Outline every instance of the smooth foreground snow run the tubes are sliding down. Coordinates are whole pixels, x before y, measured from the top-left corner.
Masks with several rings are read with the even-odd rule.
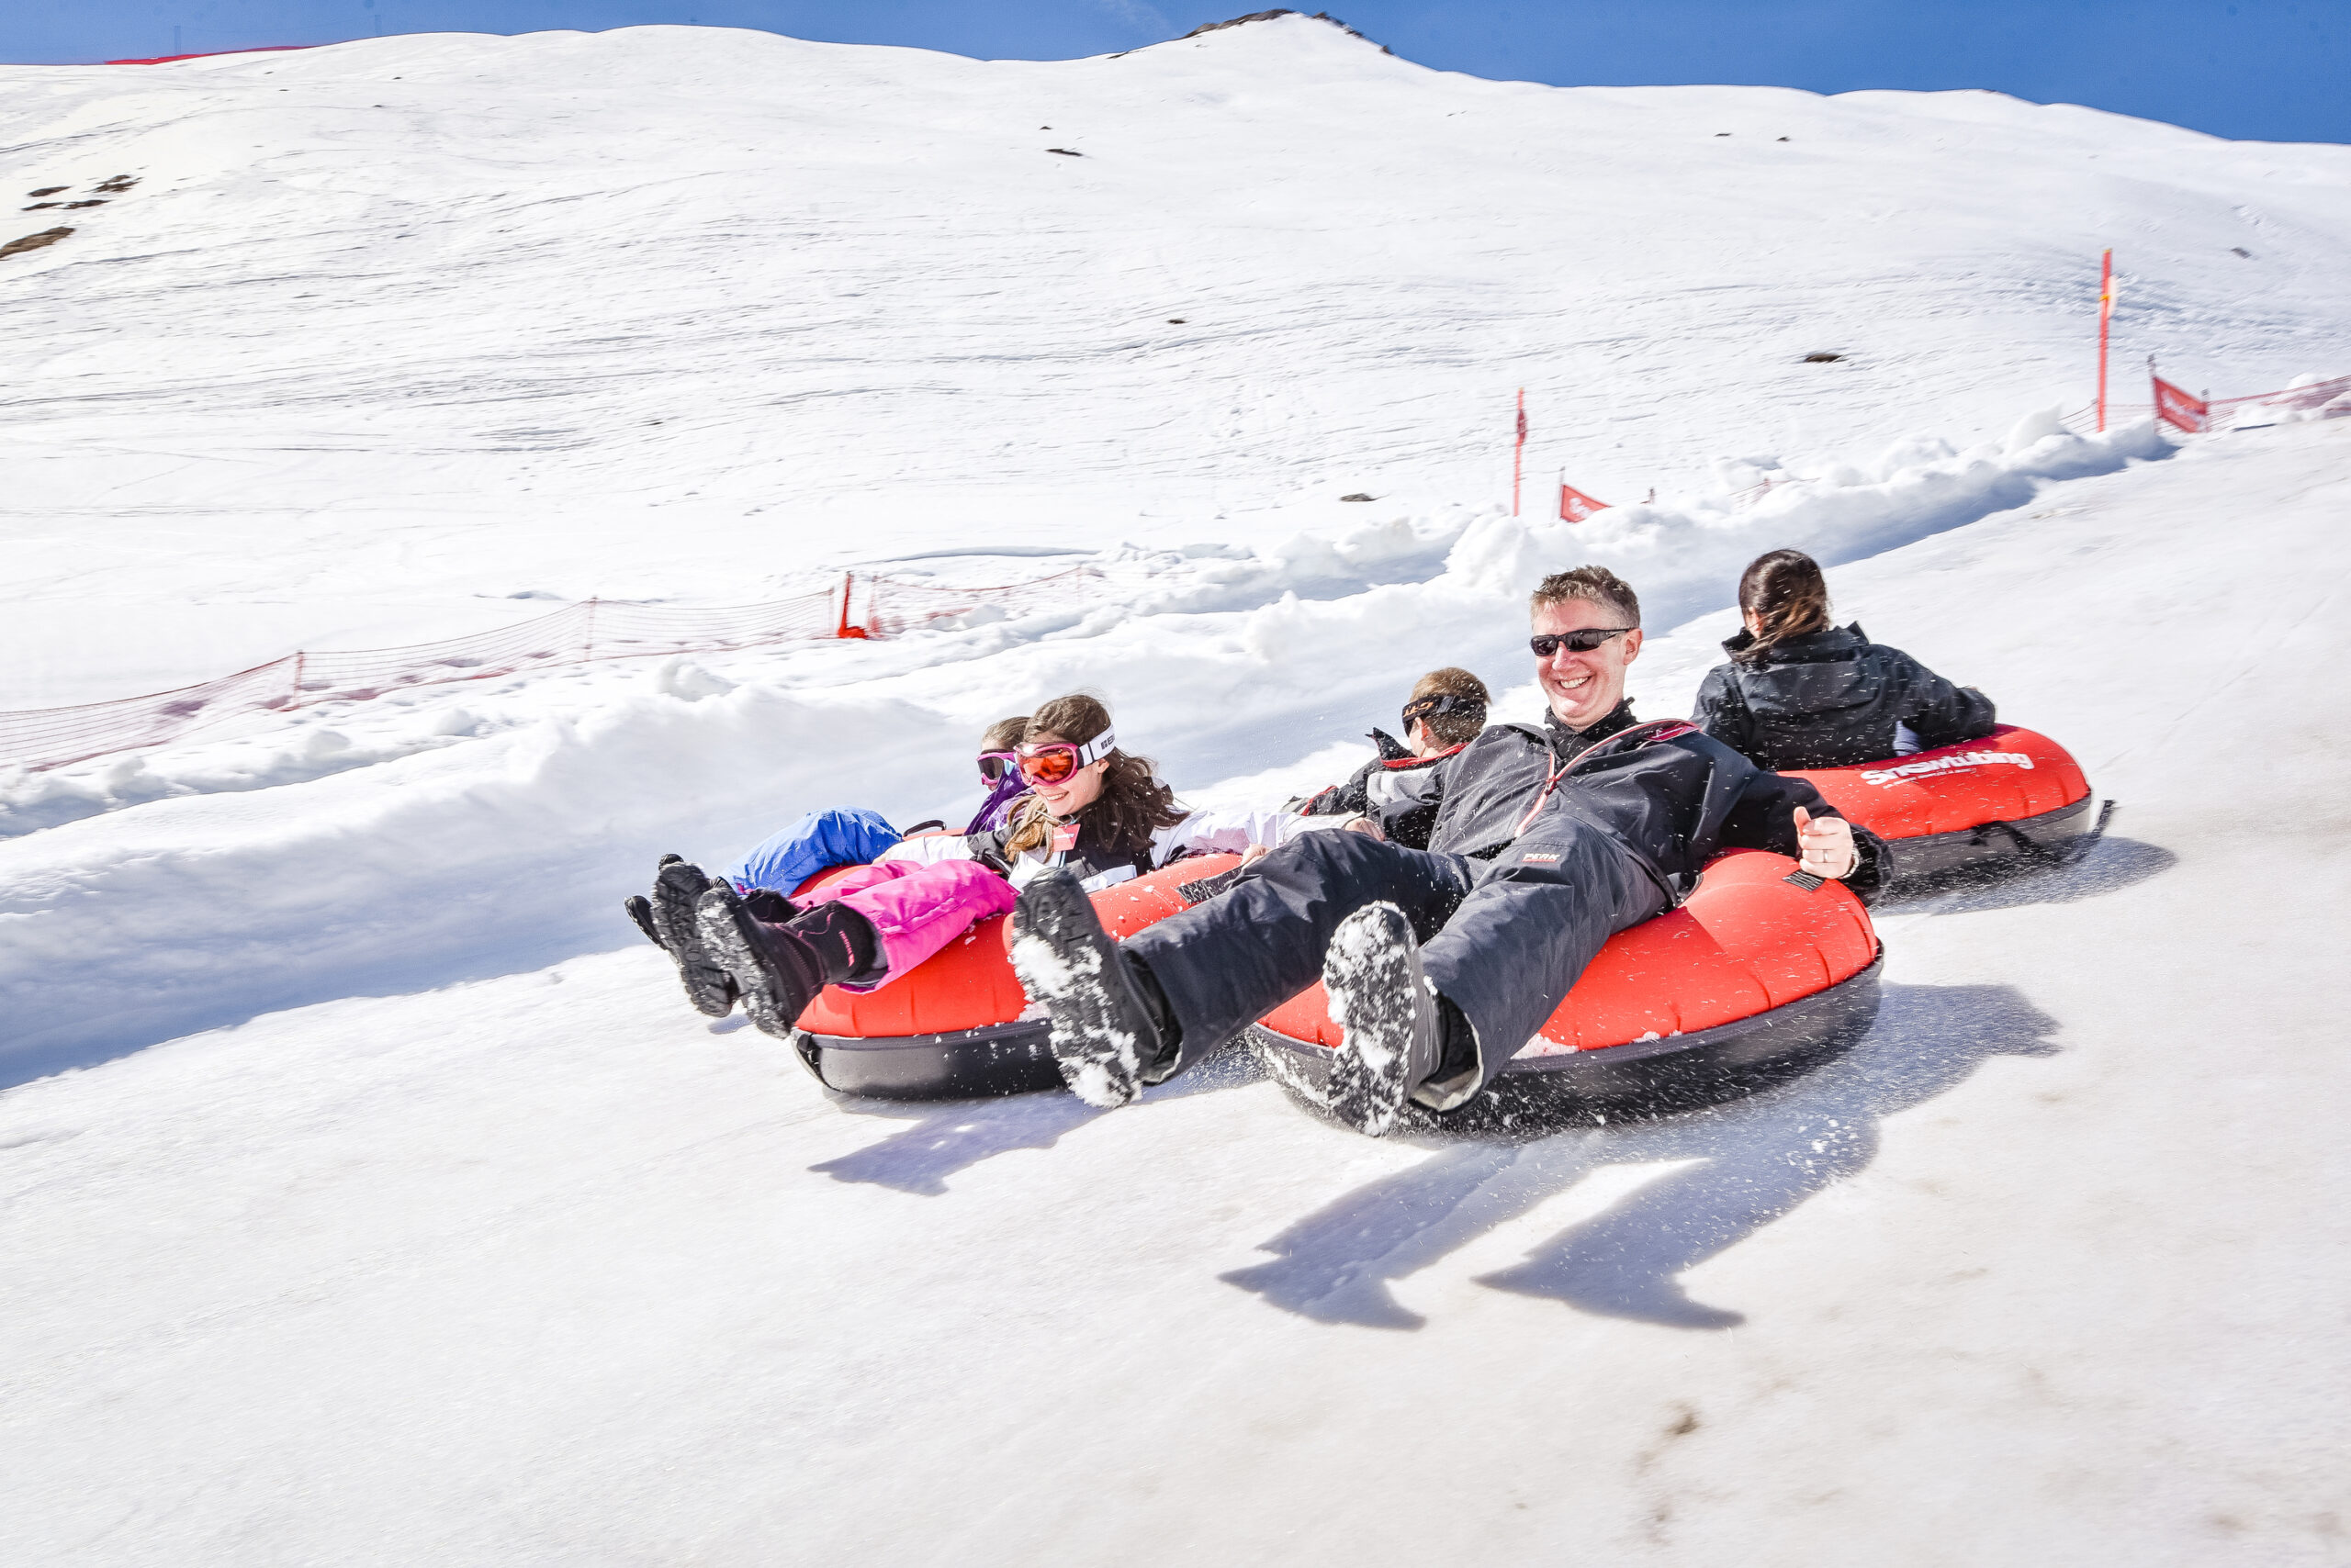
[[[1838,574],[2125,813],[2078,872],[1888,912],[1867,1046],[1721,1112],[1375,1145],[1239,1072],[828,1103],[642,945],[28,1084],[0,1544],[2335,1561],[2346,473],[2346,423],[2255,433]],[[1657,705],[1721,630],[1653,644]],[[228,924],[299,882],[221,884]]]

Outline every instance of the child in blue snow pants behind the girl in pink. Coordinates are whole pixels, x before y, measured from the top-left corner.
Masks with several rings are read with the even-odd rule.
[[[1020,745],[1023,733],[1027,733],[1027,715],[997,719],[980,736],[980,783],[987,785],[987,799],[980,802],[980,809],[966,823],[966,835],[1004,827],[1013,804],[1027,795],[1020,769],[1013,764],[1013,748]],[[863,806],[809,811],[745,851],[722,877],[752,907],[790,922],[799,912],[790,903],[790,893],[802,882],[832,865],[870,865],[907,835],[924,827],[945,827],[945,823],[917,823],[907,832],[898,832],[879,811]],[[734,1011],[738,992],[703,945],[694,917],[708,889],[710,877],[698,865],[686,863],[682,856],[663,856],[654,872],[654,893],[649,898],[628,898],[623,907],[637,922],[637,929],[644,931],[647,940],[668,952],[677,964],[686,1001],[710,1018],[724,1018]],[[823,903],[828,896],[839,898],[844,893],[825,889],[811,896],[811,903]]]

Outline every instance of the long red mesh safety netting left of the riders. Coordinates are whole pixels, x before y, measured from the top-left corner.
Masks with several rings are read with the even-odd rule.
[[[1100,574],[1077,567],[1032,583],[994,588],[846,576],[839,588],[729,609],[588,599],[473,637],[395,649],[287,654],[179,691],[0,712],[0,764],[56,769],[108,752],[162,745],[233,715],[367,701],[407,686],[489,679],[604,658],[717,654],[820,637],[896,637],[980,609],[1004,616],[1034,614],[1079,599],[1089,578]]]

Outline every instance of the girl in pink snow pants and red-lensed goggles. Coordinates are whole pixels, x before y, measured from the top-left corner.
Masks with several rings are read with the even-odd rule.
[[[1084,693],[1030,715],[1013,762],[1027,792],[1002,827],[900,839],[818,893],[813,907],[769,891],[745,898],[729,882],[703,891],[703,950],[755,1025],[790,1037],[825,985],[889,985],[978,922],[1011,912],[1013,889],[1049,870],[1084,898],[1187,853],[1272,849],[1310,827],[1371,827],[1288,811],[1185,811],[1147,757],[1119,750],[1110,710]]]

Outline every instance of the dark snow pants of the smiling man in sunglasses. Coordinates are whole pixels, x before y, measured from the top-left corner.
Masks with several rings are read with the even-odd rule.
[[[1566,811],[1547,811],[1495,860],[1345,830],[1302,835],[1230,891],[1126,940],[1183,1025],[1178,1072],[1321,980],[1331,936],[1371,903],[1413,924],[1429,983],[1476,1030],[1483,1084],[1601,943],[1672,900],[1622,844]]]

